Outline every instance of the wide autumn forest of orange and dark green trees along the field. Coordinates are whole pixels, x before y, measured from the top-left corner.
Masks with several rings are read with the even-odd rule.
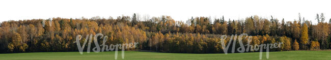
[[[85,37],[98,33],[108,37],[106,45],[139,42],[134,49],[159,52],[223,53],[219,37],[243,33],[252,36],[253,45],[284,43],[281,48],[270,51],[330,49],[331,19],[324,22],[324,14],[317,14],[317,24],[301,17],[294,21],[280,21],[272,16],[228,21],[224,17],[192,17],[183,22],[170,16],[144,16],[143,20],[139,16],[4,21],[0,24],[0,52],[77,51],[77,35],[83,36],[82,44]],[[229,40],[230,37],[226,39]],[[98,41],[102,44],[101,39]],[[94,47],[94,43],[91,45]]]

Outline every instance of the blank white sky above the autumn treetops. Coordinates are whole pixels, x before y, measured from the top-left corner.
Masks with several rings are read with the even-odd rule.
[[[279,20],[298,20],[298,13],[307,20],[315,20],[316,14],[324,13],[325,22],[331,18],[331,1],[327,0],[1,0],[0,22],[8,20],[62,18],[91,18],[100,16],[171,16],[176,21],[191,17],[244,19],[253,15]]]

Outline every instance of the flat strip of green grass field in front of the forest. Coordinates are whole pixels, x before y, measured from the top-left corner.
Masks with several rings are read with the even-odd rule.
[[[8,53],[0,54],[1,60],[113,60],[115,52],[91,52],[79,54],[79,52],[33,52],[33,53]],[[263,58],[266,59],[263,52]],[[121,52],[118,59],[122,59]],[[157,53],[125,51],[124,59],[146,60],[146,59],[259,59],[259,52],[251,53],[214,53],[214,54],[191,54],[191,53]],[[331,51],[282,51],[270,52],[269,59],[292,60],[292,59],[331,59]]]

